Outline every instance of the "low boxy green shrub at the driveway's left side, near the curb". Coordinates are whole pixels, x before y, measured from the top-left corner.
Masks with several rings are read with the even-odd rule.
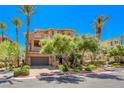
[[[23,67],[15,68],[14,69],[14,77],[16,76],[28,76],[30,71],[30,66],[25,65]]]

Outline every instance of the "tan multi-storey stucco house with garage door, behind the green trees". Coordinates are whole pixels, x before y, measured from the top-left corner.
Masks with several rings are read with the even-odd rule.
[[[40,54],[39,41],[45,38],[51,38],[54,34],[63,34],[72,36],[73,30],[71,29],[35,29],[29,33],[29,53],[28,64],[31,66],[53,65],[54,59],[50,54]],[[26,34],[26,33],[25,33]]]

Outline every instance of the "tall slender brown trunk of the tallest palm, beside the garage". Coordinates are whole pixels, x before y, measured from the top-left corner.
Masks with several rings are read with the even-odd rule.
[[[26,52],[25,52],[25,63],[28,64],[28,46],[29,46],[29,31],[30,31],[30,16],[27,16],[27,33],[26,33]]]

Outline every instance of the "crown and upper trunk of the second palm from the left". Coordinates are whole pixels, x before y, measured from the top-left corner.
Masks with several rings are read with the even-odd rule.
[[[18,31],[19,31],[19,27],[21,26],[21,20],[17,17],[14,17],[12,20],[10,20],[16,28],[16,42],[18,44]]]

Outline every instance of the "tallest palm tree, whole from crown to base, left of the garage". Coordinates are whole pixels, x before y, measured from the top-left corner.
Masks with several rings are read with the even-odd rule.
[[[29,47],[29,32],[30,32],[30,16],[35,14],[34,6],[32,5],[23,5],[19,6],[19,12],[23,13],[27,19],[27,32],[26,32],[26,52],[25,52],[25,62],[28,62],[28,47]]]

